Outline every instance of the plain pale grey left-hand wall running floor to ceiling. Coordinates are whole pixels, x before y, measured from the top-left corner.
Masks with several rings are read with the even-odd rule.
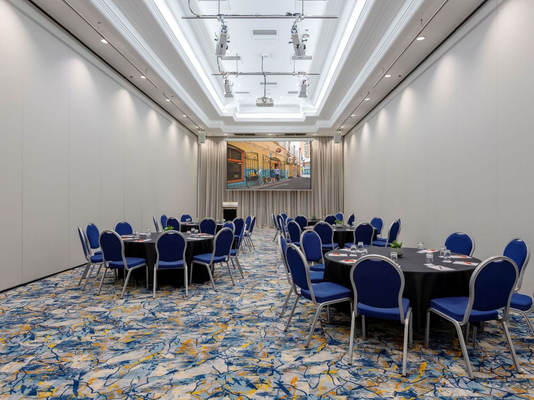
[[[0,290],[80,265],[78,226],[196,210],[193,134],[25,0],[0,21]]]

